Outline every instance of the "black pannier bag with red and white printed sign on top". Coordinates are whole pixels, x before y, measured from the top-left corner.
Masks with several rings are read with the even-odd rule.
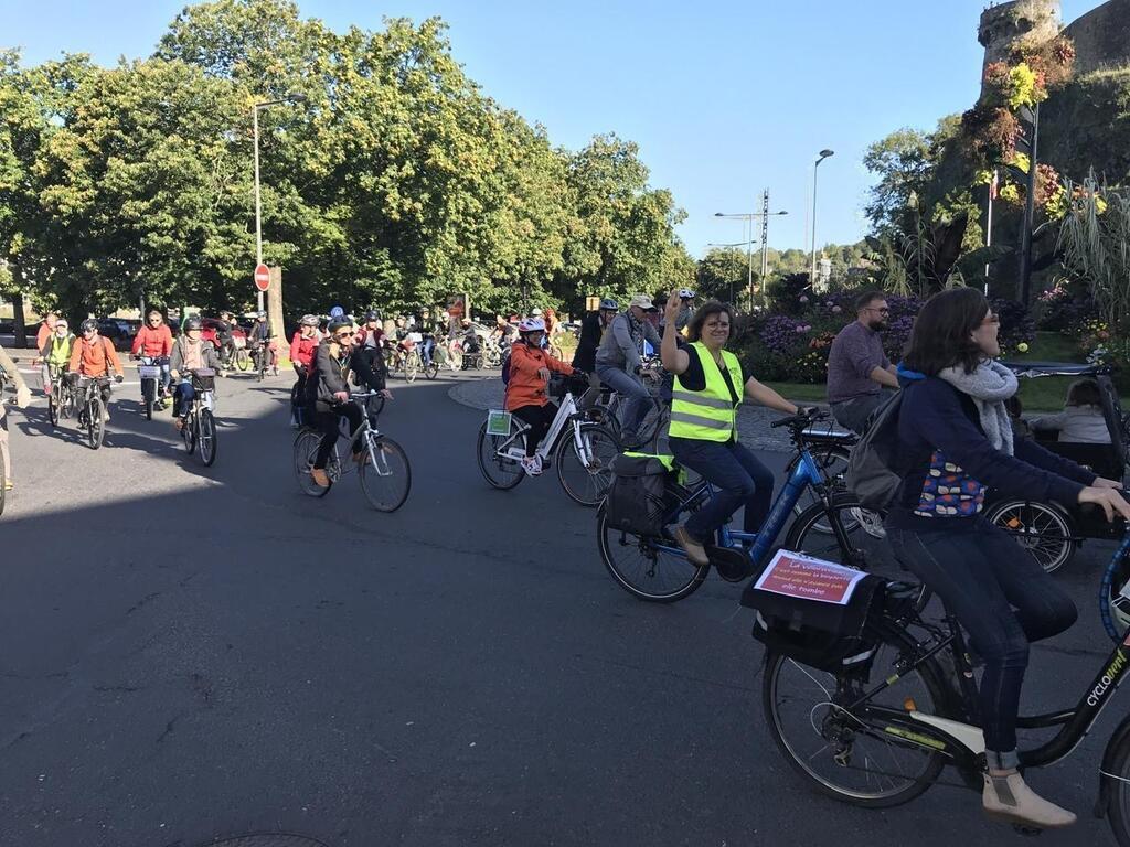
[[[741,604],[756,610],[753,636],[767,652],[836,672],[873,655],[886,586],[883,577],[781,550]]]

